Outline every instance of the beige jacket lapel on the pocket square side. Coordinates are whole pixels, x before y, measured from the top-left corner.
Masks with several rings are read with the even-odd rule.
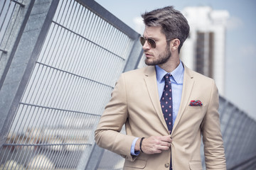
[[[185,69],[185,72],[184,72],[184,77],[183,77],[183,89],[182,89],[182,95],[181,95],[181,104],[178,109],[178,115],[177,115],[177,118],[174,123],[174,128],[172,130],[172,134],[174,133],[176,127],[178,126],[178,122],[181,120],[181,117],[182,117],[186,107],[189,104],[188,103],[189,97],[191,96],[191,91],[193,89],[193,84],[194,84],[193,73],[185,65],[184,65],[184,69]]]

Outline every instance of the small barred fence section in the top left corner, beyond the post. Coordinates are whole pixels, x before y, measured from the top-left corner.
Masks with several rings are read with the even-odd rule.
[[[24,6],[23,2],[0,1],[0,89],[13,59],[16,45],[21,38],[28,8],[29,4]]]

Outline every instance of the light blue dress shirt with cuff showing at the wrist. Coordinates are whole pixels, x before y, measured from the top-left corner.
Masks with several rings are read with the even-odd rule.
[[[165,74],[167,74],[167,72],[164,69],[161,69],[161,67],[159,67],[158,65],[156,65],[156,82],[157,82],[157,88],[159,92],[159,101],[164,91],[164,75]],[[180,64],[178,64],[178,67],[169,74],[172,75],[170,79],[171,79],[171,90],[172,90],[172,98],[173,98],[173,125],[174,125],[178,115],[178,108],[181,103],[181,95],[182,95],[182,88],[183,88],[184,67],[182,62],[180,61]],[[139,155],[139,152],[134,152],[134,147],[138,139],[139,137],[134,139],[131,147],[131,154],[136,156]]]

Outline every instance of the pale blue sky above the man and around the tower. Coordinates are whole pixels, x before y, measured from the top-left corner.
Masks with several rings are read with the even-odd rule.
[[[255,0],[95,0],[138,33],[138,18],[145,11],[174,6],[210,6],[229,13],[226,30],[224,97],[256,120],[256,1]]]

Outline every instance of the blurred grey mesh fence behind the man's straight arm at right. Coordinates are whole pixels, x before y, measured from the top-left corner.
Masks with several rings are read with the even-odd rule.
[[[256,140],[255,120],[221,96],[219,113],[227,169],[255,169],[256,163],[252,164],[256,159],[256,147],[253,145]],[[201,151],[204,165],[203,145]],[[245,164],[246,168],[240,164]]]

